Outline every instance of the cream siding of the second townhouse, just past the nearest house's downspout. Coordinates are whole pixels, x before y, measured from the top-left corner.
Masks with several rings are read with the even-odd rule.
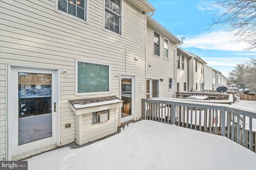
[[[172,98],[174,90],[169,91],[169,78],[174,78],[174,44],[169,40],[169,60],[164,59],[164,37],[160,34],[160,57],[154,55],[153,29],[147,26],[146,58],[147,78],[159,81],[160,98]],[[148,66],[151,65],[151,67]],[[163,82],[160,78],[164,79]],[[173,84],[173,88],[176,86]]]

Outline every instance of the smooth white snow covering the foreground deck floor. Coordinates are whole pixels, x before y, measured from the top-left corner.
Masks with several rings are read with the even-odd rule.
[[[86,147],[33,156],[30,170],[255,170],[256,154],[230,139],[143,120]]]

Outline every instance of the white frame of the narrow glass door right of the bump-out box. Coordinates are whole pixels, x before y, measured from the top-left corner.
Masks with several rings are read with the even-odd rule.
[[[120,76],[120,98],[122,99],[122,78],[131,78],[132,79],[132,115],[130,116],[126,116],[124,118],[122,118],[122,109],[120,107],[120,124],[121,123],[125,123],[127,121],[131,121],[131,120],[135,120],[135,100],[136,100],[136,76],[127,76],[127,75],[121,75]],[[131,118],[132,117],[132,118]],[[130,118],[130,119],[129,119]]]

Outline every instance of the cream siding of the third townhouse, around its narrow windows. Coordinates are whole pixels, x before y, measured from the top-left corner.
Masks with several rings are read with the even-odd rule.
[[[182,55],[180,54],[180,68],[177,68],[177,83],[180,83],[180,92],[184,91],[184,82],[186,91],[188,90],[188,58],[184,56],[184,70],[182,70]]]

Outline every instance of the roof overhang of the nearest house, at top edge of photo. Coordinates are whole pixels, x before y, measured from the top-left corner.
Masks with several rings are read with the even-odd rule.
[[[144,14],[148,14],[150,12],[156,11],[156,9],[148,3],[146,0],[126,0],[129,2],[134,8],[138,9],[140,12],[144,12]]]

